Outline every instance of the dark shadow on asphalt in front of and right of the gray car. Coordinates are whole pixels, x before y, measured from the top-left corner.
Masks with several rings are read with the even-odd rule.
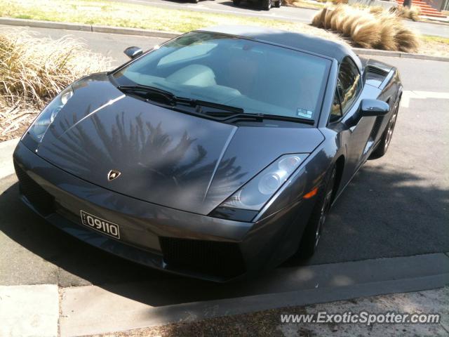
[[[309,265],[449,251],[448,190],[383,167],[368,163],[356,175],[335,204],[314,258],[289,260],[260,277],[228,284],[168,275],[83,244],[22,204],[18,183],[0,195],[0,231],[58,266],[60,286],[95,284],[152,306],[250,296],[274,288],[310,289]]]

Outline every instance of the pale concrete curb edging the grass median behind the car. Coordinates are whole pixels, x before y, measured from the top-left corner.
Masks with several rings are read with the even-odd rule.
[[[110,34],[139,35],[145,37],[161,37],[165,39],[173,39],[174,37],[178,37],[180,34],[182,34],[179,32],[159,32],[156,30],[138,29],[138,28],[83,25],[78,23],[65,23],[65,22],[52,22],[52,21],[13,19],[13,18],[0,18],[0,25],[67,29],[67,30],[79,30],[84,32],[97,32],[97,33],[110,33]],[[360,55],[377,55],[377,56],[389,56],[393,58],[414,58],[419,60],[449,62],[449,58],[444,58],[441,56],[403,53],[400,51],[380,51],[377,49],[364,49],[364,48],[353,48],[353,50],[355,53],[358,53]]]

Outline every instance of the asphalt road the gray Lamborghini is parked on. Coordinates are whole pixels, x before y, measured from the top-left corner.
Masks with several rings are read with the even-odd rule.
[[[93,51],[114,58],[114,65],[126,60],[121,53],[126,46],[150,48],[163,41],[33,30],[53,38],[71,34],[85,39]],[[449,93],[449,62],[376,58],[398,67],[408,93],[424,93],[403,100],[389,152],[368,161],[337,201],[316,256],[290,261],[290,267],[449,251],[449,100],[431,98],[434,92]],[[0,192],[0,285],[152,279],[180,288],[204,286],[109,256],[56,230],[19,201],[14,175],[0,180]]]

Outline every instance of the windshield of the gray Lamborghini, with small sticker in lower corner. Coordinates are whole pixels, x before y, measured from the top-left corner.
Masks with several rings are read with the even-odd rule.
[[[114,73],[120,86],[143,85],[245,113],[314,120],[330,61],[222,34],[192,32]]]

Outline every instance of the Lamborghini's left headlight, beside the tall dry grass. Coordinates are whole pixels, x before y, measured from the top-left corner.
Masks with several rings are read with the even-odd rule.
[[[55,120],[56,115],[65,103],[72,97],[72,86],[65,88],[59,95],[57,95],[48,105],[42,110],[41,114],[36,118],[32,126],[29,127],[28,133],[38,143],[41,142],[43,135],[45,135],[48,126]]]

